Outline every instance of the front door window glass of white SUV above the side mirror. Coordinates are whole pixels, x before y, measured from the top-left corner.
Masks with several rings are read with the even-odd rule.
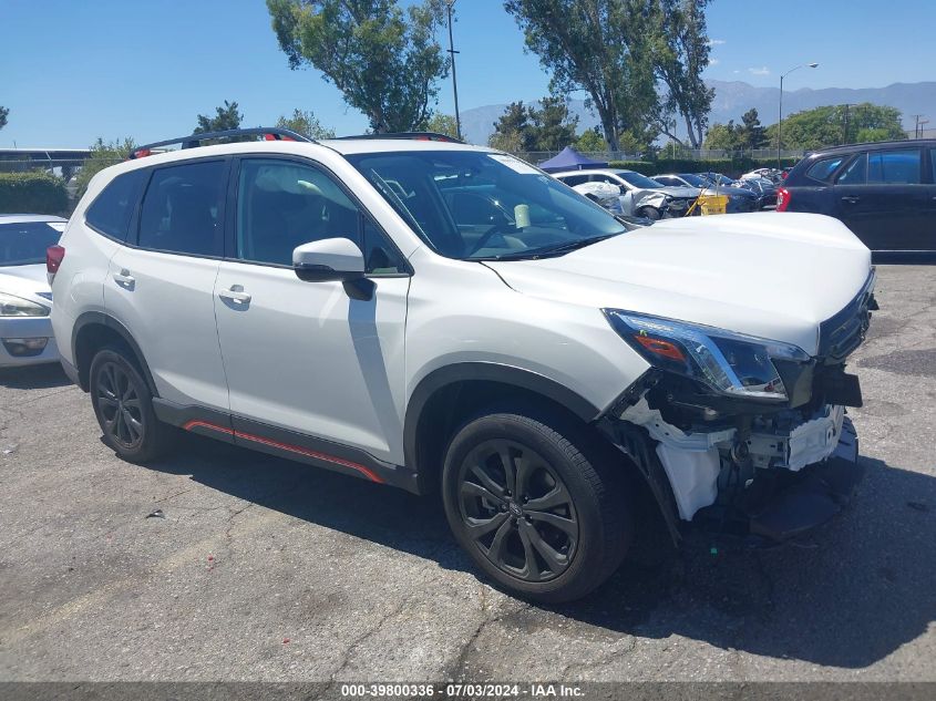
[[[348,238],[374,275],[407,271],[397,248],[344,190],[320,168],[281,158],[245,158],[237,183],[236,257],[292,265],[292,249]]]

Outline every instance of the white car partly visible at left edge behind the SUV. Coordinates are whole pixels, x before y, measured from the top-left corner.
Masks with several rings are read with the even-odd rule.
[[[59,360],[45,249],[58,243],[65,224],[45,215],[0,215],[0,368]]]

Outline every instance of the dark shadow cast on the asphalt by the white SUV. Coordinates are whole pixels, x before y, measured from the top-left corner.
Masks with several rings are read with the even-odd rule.
[[[439,499],[186,435],[153,468],[296,518],[476,574]],[[693,540],[647,547],[586,599],[539,607],[637,637],[864,668],[936,620],[936,478],[862,457],[853,505],[811,542],[743,550]]]

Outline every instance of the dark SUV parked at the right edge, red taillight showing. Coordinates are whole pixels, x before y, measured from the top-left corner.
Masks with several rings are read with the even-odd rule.
[[[813,153],[784,181],[776,210],[841,219],[872,250],[936,251],[936,140]]]

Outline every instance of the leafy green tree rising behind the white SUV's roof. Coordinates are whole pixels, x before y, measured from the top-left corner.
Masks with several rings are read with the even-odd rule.
[[[435,41],[443,0],[267,0],[289,68],[312,65],[374,132],[407,132],[431,116],[449,60]]]

